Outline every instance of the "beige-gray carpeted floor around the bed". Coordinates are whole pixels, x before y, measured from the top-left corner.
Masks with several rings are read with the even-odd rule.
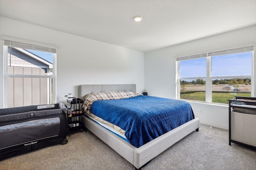
[[[0,170],[133,170],[134,167],[90,131],[55,145],[0,162]],[[256,170],[256,149],[232,143],[228,131],[200,126],[156,156],[142,170]]]

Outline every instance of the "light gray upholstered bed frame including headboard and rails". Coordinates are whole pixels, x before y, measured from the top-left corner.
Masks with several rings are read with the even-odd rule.
[[[136,84],[80,85],[79,98],[84,100],[86,94],[109,91],[130,91],[136,93]],[[94,135],[96,135],[98,138],[104,141],[104,143],[109,145],[112,149],[118,152],[118,154],[130,162],[136,170],[141,170],[142,166],[144,166],[158,154],[168,149],[174,143],[180,141],[180,139],[184,138],[192,131],[198,131],[199,129],[199,119],[195,118],[146,143],[145,145],[136,148],[86,116],[82,116],[80,121],[82,121],[83,125],[94,133]]]

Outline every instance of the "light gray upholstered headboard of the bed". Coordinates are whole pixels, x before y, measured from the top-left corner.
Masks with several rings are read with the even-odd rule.
[[[84,100],[86,94],[111,91],[136,93],[136,84],[79,85],[79,98]]]

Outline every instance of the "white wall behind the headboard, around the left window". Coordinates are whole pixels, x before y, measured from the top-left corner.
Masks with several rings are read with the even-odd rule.
[[[0,35],[58,45],[57,102],[65,102],[68,93],[78,96],[79,84],[136,84],[137,93],[144,90],[143,52],[3,17]],[[0,48],[0,96],[4,90],[2,55]]]

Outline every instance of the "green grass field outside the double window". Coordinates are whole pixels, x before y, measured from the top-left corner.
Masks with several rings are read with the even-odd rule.
[[[250,93],[212,93],[212,102],[213,103],[223,103],[228,104],[228,99],[234,98],[234,96],[244,96],[244,97],[251,97]],[[204,101],[205,102],[205,92],[194,92],[194,93],[180,93],[181,99],[187,100],[197,100],[197,101]]]

